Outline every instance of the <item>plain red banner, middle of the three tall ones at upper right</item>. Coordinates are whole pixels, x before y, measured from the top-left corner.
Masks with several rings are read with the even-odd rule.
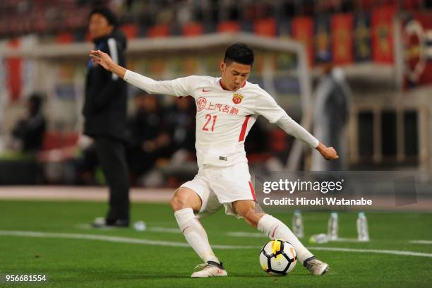
[[[332,17],[332,56],[335,64],[348,64],[353,61],[353,24],[352,14]]]

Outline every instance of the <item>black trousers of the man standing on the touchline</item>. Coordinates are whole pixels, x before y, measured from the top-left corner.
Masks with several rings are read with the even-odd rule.
[[[129,177],[124,143],[109,137],[96,137],[97,157],[109,186],[107,222],[129,220]]]

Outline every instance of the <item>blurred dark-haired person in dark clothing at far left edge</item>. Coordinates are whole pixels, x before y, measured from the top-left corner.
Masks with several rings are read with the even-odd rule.
[[[26,108],[27,116],[20,119],[12,129],[13,146],[21,152],[37,152],[42,149],[46,130],[41,95],[30,95]]]

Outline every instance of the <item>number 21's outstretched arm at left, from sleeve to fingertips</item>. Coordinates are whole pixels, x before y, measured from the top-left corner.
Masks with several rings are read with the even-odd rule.
[[[92,50],[90,57],[95,64],[99,64],[108,71],[118,75],[126,82],[141,88],[150,94],[164,94],[174,96],[191,95],[188,78],[177,78],[175,80],[157,81],[145,77],[116,64],[111,57],[100,50]]]

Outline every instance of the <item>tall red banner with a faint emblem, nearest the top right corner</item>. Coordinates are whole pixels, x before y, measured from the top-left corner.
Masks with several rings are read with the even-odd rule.
[[[381,63],[393,63],[393,6],[375,8],[372,11],[372,59]]]

